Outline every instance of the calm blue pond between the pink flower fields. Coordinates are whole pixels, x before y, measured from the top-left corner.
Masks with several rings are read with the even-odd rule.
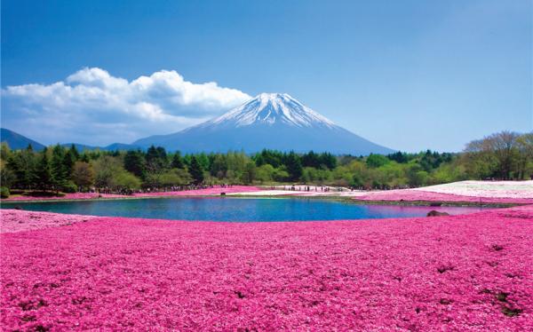
[[[450,215],[486,209],[356,204],[302,198],[228,197],[2,203],[2,209],[13,209],[16,206],[34,211],[93,216],[234,222],[426,217],[432,209],[448,212]]]

